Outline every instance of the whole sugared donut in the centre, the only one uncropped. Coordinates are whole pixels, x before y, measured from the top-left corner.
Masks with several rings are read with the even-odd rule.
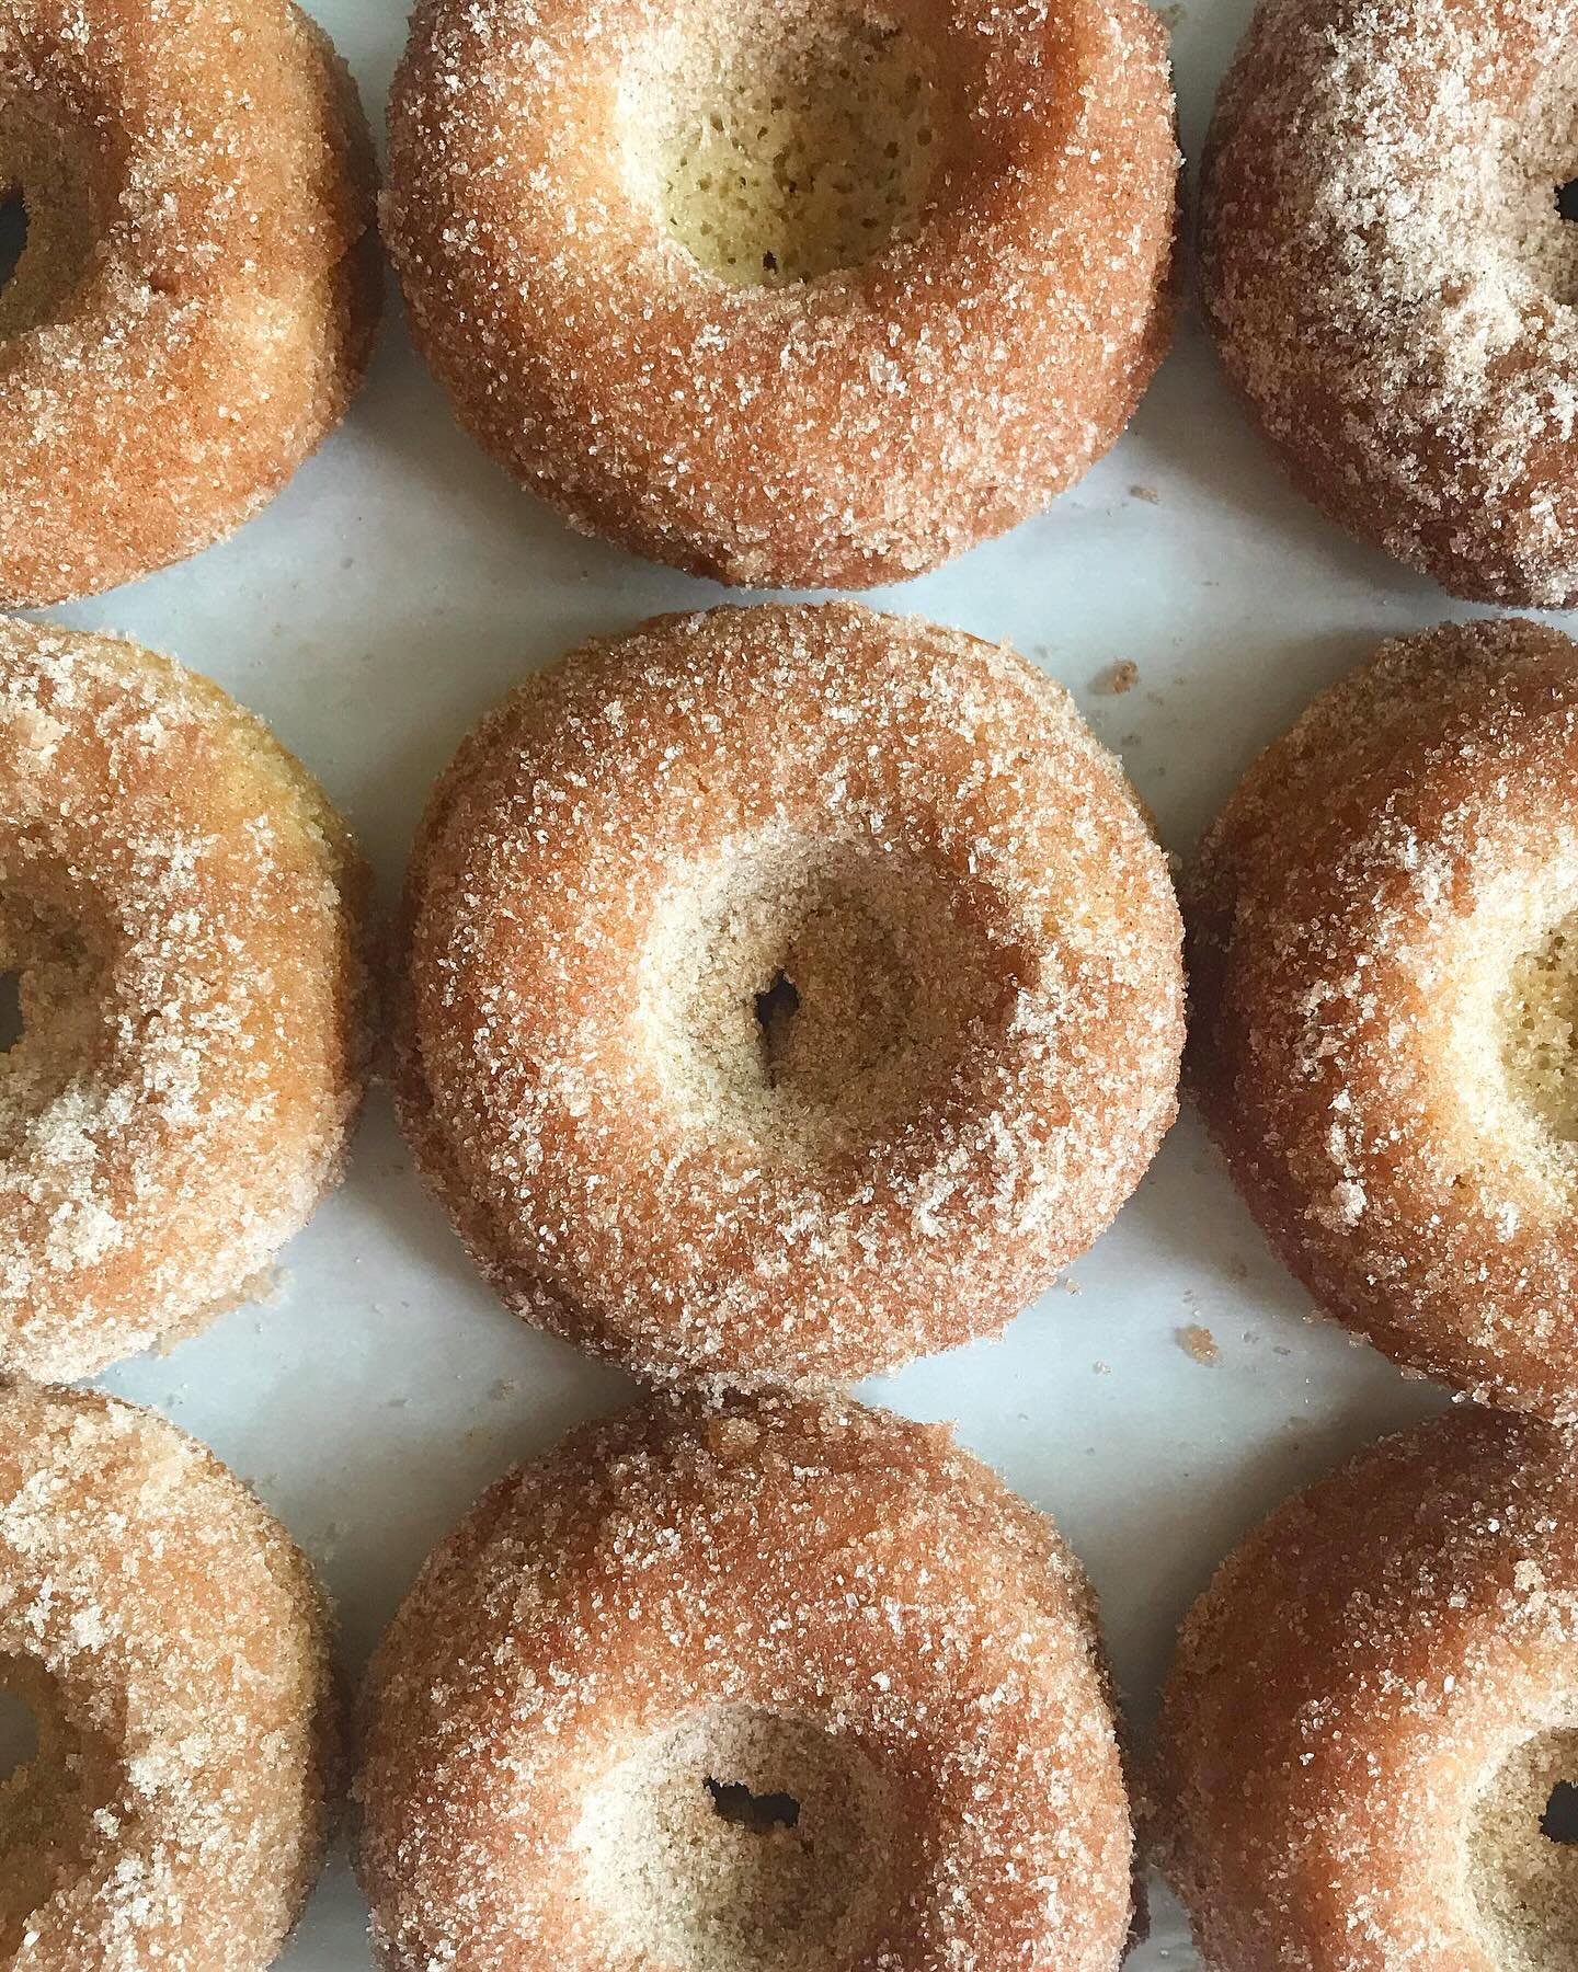
[[[477,1266],[651,1380],[998,1331],[1176,1114],[1166,860],[1061,686],[852,603],[659,617],[432,795],[396,1094]]]

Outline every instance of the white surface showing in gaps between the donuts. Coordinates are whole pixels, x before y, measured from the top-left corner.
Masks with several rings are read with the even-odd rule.
[[[1249,6],[1170,10],[1191,160]],[[404,8],[314,10],[381,126]],[[391,308],[347,426],[258,521],[55,615],[166,649],[262,712],[361,830],[389,899],[434,775],[487,704],[586,635],[722,594],[584,542],[517,493],[452,422]],[[872,599],[1010,639],[1063,678],[1178,852],[1253,751],[1381,635],[1466,613],[1284,487],[1193,310],[1134,428],[1055,511]],[[1103,694],[1120,659],[1140,680]],[[1306,1317],[1185,1114],[1116,1229],[1002,1343],[870,1386],[957,1418],[1057,1516],[1101,1591],[1142,1743],[1176,1623],[1237,1534],[1440,1402]],[[1178,1345],[1187,1323],[1215,1335],[1215,1367]],[[278,1298],[105,1382],[215,1445],[288,1522],[339,1603],[353,1674],[477,1491],[629,1388],[481,1290],[383,1091],[345,1189],[286,1252]],[[284,1964],[369,1966],[339,1860]],[[1193,1964],[1166,1899],[1132,1964]]]

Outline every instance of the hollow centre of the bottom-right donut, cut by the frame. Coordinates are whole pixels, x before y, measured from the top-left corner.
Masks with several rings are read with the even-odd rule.
[[[1479,1791],[1468,1887],[1493,1964],[1568,1972],[1578,1962],[1578,1729],[1535,1733]]]

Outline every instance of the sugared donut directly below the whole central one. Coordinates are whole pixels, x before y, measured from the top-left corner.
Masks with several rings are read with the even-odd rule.
[[[387,1972],[1114,1972],[1095,1603],[937,1426],[653,1404],[499,1481],[365,1698]]]

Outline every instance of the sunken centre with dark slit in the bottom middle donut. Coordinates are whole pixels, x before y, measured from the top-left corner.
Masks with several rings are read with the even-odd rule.
[[[621,1962],[834,1972],[892,1911],[890,1789],[860,1747],[750,1706],[651,1735],[588,1796],[576,1844]]]

